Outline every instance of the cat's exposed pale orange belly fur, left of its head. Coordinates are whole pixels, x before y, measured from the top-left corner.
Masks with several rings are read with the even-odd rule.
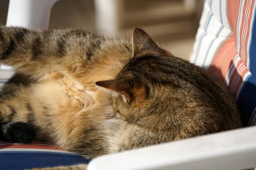
[[[59,79],[35,85],[31,100],[38,127],[49,142],[66,150],[73,150],[74,144],[86,138],[87,131],[113,116],[107,92],[93,87],[81,90]]]

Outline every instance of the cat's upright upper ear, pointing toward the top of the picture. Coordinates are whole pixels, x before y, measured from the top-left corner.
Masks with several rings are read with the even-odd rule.
[[[166,50],[163,50],[160,48],[154,40],[142,29],[135,28],[132,33],[132,43],[133,43],[133,56],[134,57],[140,57],[144,55],[170,55]]]

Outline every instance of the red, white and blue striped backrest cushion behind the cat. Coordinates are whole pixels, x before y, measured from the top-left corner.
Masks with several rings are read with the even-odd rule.
[[[227,85],[244,126],[256,125],[255,7],[255,0],[205,0],[190,58]]]

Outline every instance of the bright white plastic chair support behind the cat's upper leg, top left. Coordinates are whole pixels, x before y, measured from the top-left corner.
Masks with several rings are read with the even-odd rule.
[[[6,26],[47,29],[51,8],[58,0],[10,0]],[[14,72],[12,67],[0,65],[0,85]]]

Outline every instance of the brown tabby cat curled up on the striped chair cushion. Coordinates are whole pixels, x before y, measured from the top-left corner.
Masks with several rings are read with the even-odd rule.
[[[140,28],[131,41],[0,26],[0,63],[16,70],[0,92],[4,140],[51,142],[92,159],[242,127],[222,82]]]

